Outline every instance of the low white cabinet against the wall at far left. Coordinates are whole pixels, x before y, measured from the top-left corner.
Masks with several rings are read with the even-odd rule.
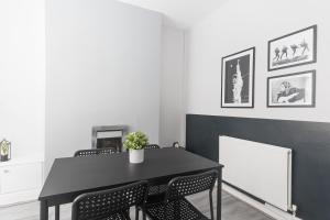
[[[43,182],[41,160],[0,163],[0,206],[37,199]]]

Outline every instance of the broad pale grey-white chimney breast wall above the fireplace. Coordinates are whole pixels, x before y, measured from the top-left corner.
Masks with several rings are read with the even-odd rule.
[[[91,127],[158,142],[158,13],[114,0],[47,0],[46,162],[91,147]]]

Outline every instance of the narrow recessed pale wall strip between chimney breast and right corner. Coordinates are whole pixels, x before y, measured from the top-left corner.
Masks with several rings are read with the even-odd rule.
[[[185,142],[184,72],[185,32],[164,25],[162,29],[160,144]]]

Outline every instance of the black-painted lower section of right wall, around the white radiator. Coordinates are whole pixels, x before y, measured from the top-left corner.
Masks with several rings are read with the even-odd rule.
[[[330,220],[330,123],[197,114],[187,114],[186,123],[187,150],[213,161],[219,135],[292,148],[297,216]]]

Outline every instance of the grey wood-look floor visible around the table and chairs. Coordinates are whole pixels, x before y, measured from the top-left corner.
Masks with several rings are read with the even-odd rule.
[[[198,194],[188,198],[199,210],[209,216],[208,194]],[[216,201],[216,198],[215,198]],[[215,202],[216,206],[216,202]],[[70,205],[61,207],[61,220],[70,219]],[[215,211],[216,213],[216,211]],[[132,210],[133,215],[133,210]],[[0,208],[1,220],[38,220],[38,202],[29,202]],[[141,219],[141,218],[140,218]],[[54,209],[50,210],[50,220],[54,220]],[[222,194],[222,220],[272,220],[272,218],[240,201],[229,194]]]

